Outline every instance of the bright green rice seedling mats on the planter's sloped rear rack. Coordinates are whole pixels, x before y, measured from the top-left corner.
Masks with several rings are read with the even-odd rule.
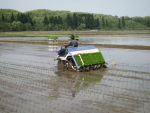
[[[100,52],[74,55],[78,66],[87,66],[98,63],[105,63],[103,55]],[[83,62],[82,62],[83,61]]]

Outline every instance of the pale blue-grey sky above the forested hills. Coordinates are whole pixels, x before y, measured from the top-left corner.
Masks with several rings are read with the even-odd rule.
[[[0,0],[1,9],[87,12],[112,16],[150,16],[150,0]]]

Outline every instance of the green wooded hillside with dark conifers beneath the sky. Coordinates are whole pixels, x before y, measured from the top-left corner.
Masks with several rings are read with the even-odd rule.
[[[0,9],[0,31],[149,30],[150,16],[118,17],[38,9],[21,13]]]

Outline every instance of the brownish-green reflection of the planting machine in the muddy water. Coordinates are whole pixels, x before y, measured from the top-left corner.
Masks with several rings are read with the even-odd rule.
[[[97,83],[100,83],[104,72],[104,70],[101,70],[101,72],[100,70],[76,72],[73,70],[66,70],[63,68],[63,65],[58,64],[58,69],[55,72],[56,77],[55,80],[53,80],[53,82],[55,81],[53,97],[55,95],[55,98],[59,98],[61,96],[60,93],[62,93],[61,91],[65,90],[65,93],[68,93],[67,95],[74,98],[81,90],[87,89],[90,86],[94,87]]]

